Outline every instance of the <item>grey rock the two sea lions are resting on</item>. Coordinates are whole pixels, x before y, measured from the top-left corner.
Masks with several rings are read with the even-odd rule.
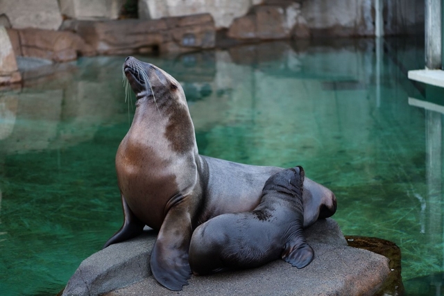
[[[385,256],[348,246],[328,218],[305,229],[315,259],[298,270],[282,260],[261,268],[194,277],[182,291],[157,284],[149,268],[153,230],[83,261],[62,295],[374,295],[391,274]]]

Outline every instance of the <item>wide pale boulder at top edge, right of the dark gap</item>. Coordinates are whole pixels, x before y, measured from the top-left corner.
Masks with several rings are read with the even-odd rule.
[[[210,13],[216,28],[228,28],[233,19],[245,15],[263,0],[139,0],[140,19],[161,19]]]

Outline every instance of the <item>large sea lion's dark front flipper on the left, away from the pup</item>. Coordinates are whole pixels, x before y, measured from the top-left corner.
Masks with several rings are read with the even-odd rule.
[[[113,243],[120,243],[121,241],[126,241],[130,238],[138,236],[144,231],[144,223],[140,222],[140,220],[133,214],[130,207],[126,203],[123,194],[120,193],[122,200],[122,209],[123,209],[123,225],[110,239],[103,245],[103,249],[108,247],[108,245],[112,245]]]

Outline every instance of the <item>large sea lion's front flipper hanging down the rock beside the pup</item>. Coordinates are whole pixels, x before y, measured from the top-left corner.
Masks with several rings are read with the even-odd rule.
[[[192,229],[188,207],[182,200],[169,209],[151,251],[153,276],[173,291],[182,290],[191,277],[188,250]]]

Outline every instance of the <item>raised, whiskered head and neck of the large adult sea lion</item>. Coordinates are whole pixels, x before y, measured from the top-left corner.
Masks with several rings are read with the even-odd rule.
[[[146,128],[155,126],[164,132],[162,137],[169,141],[174,152],[196,155],[194,125],[180,83],[159,67],[133,57],[126,58],[122,70],[126,92],[130,87],[137,99],[133,125],[144,127],[135,130],[148,135]]]

